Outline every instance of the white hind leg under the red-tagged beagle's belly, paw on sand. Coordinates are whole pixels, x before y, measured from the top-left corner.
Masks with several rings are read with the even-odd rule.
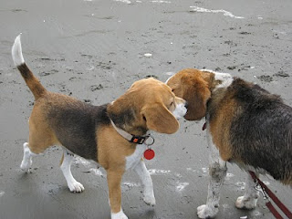
[[[68,188],[70,192],[72,193],[81,193],[84,190],[84,187],[81,183],[78,183],[71,172],[71,162],[74,159],[74,153],[71,151],[68,151],[67,149],[63,148],[63,156],[61,160],[61,170],[63,172],[63,175],[66,179],[66,182],[68,184]]]

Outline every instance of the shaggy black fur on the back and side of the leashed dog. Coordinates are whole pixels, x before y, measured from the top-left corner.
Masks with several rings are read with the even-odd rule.
[[[279,96],[239,78],[230,89],[242,111],[230,130],[235,156],[276,180],[288,179],[292,174],[292,108]]]

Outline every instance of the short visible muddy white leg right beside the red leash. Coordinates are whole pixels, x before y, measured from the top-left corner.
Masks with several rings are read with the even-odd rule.
[[[247,172],[245,180],[245,195],[237,198],[235,206],[243,209],[253,209],[256,206],[258,192],[255,190],[255,182]]]

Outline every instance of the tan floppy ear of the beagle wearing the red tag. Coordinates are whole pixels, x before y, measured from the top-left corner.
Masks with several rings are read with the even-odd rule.
[[[174,118],[172,112],[162,103],[145,106],[141,110],[143,119],[146,120],[148,129],[160,133],[172,134],[180,128],[179,122]]]

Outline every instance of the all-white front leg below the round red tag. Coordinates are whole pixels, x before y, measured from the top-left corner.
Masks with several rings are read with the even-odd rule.
[[[143,187],[144,187],[144,192],[143,192],[144,202],[154,206],[155,197],[154,197],[154,192],[153,192],[153,183],[152,183],[151,175],[148,172],[145,162],[143,160],[141,160],[137,164],[137,166],[135,167],[135,172],[137,172],[137,174],[139,175],[141,179],[141,183],[143,184]]]

